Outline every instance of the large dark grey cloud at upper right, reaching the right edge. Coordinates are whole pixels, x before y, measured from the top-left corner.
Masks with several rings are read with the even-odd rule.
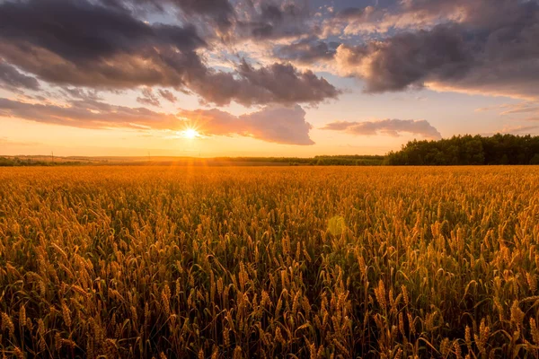
[[[539,97],[537,2],[425,0],[403,4],[409,11],[453,9],[461,15],[425,30],[400,32],[358,46],[341,45],[336,54],[340,74],[364,79],[367,92],[402,91],[428,84],[440,91]]]

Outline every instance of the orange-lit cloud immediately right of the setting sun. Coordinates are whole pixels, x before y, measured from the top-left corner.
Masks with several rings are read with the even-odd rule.
[[[204,136],[240,135],[277,144],[314,144],[305,110],[297,105],[267,107],[239,117],[219,109],[183,110],[179,116],[188,118],[190,126]]]

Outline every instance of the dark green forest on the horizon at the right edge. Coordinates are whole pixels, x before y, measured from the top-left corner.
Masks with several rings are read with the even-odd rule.
[[[413,140],[390,152],[388,165],[539,164],[539,136],[453,136],[438,141]]]

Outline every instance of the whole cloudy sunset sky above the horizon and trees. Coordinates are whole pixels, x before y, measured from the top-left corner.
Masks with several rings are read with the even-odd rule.
[[[0,154],[539,134],[537,0],[0,0]]]

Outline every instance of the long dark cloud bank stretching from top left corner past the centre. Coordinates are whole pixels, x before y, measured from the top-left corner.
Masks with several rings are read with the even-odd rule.
[[[185,2],[200,11],[197,6],[212,3]],[[323,78],[288,65],[214,70],[197,52],[207,47],[193,26],[142,22],[122,6],[86,0],[0,3],[0,56],[49,83],[102,89],[158,85],[189,89],[218,104],[315,103],[339,93]],[[278,83],[291,87],[278,89]]]

